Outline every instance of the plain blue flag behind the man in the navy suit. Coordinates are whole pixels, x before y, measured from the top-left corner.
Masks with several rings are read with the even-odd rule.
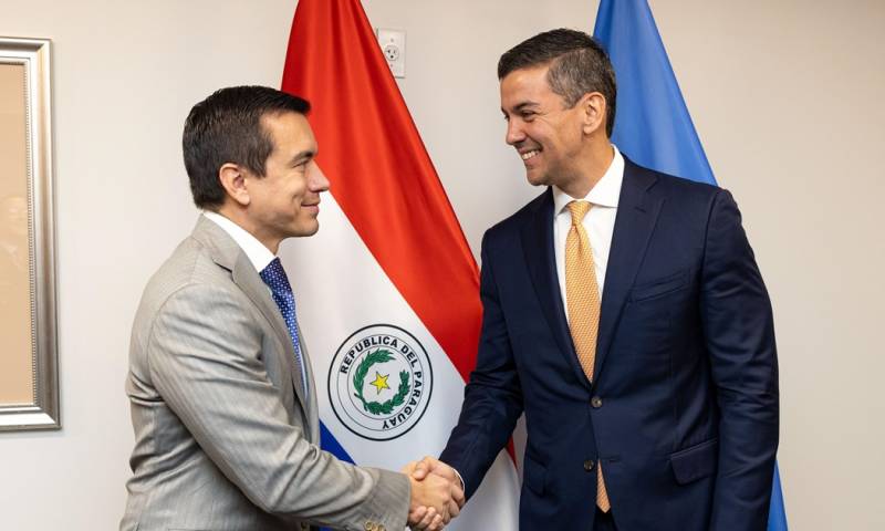
[[[617,77],[612,142],[642,166],[715,185],[647,0],[602,0],[593,34]],[[787,531],[777,466],[772,473],[768,531]]]

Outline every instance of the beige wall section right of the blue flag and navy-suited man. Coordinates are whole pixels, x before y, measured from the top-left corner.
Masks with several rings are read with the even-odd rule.
[[[792,529],[885,529],[885,3],[679,3],[653,8],[774,306]]]

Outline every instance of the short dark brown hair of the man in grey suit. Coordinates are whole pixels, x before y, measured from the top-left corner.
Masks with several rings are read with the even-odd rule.
[[[216,209],[225,202],[218,170],[227,163],[264,176],[273,139],[261,125],[262,116],[308,114],[310,108],[306,100],[268,86],[221,88],[194,105],[185,121],[181,147],[197,207]]]

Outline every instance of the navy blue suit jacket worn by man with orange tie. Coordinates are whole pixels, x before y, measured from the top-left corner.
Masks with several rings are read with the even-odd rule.
[[[764,530],[778,446],[771,304],[723,189],[625,159],[594,382],[569,333],[546,190],[482,240],[482,334],[441,459],[473,493],[521,413],[520,528]]]

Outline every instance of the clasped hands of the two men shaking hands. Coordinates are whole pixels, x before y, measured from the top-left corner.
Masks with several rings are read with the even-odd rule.
[[[408,525],[413,530],[438,531],[457,517],[465,503],[464,485],[454,468],[425,457],[403,468],[412,485]]]

